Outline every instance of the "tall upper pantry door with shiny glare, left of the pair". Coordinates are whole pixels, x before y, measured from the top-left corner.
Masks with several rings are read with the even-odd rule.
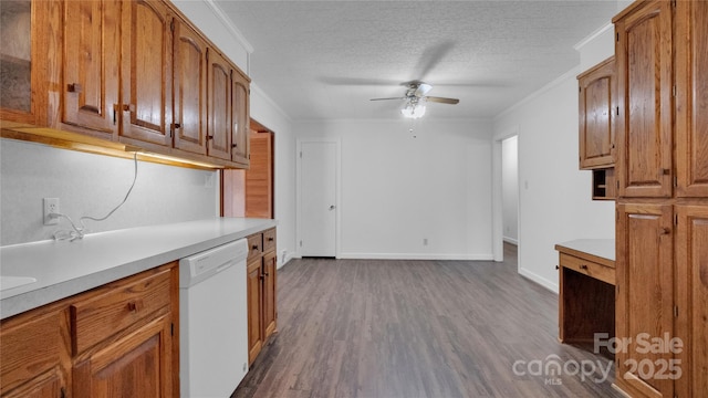
[[[671,2],[637,3],[615,21],[620,197],[671,196]]]

